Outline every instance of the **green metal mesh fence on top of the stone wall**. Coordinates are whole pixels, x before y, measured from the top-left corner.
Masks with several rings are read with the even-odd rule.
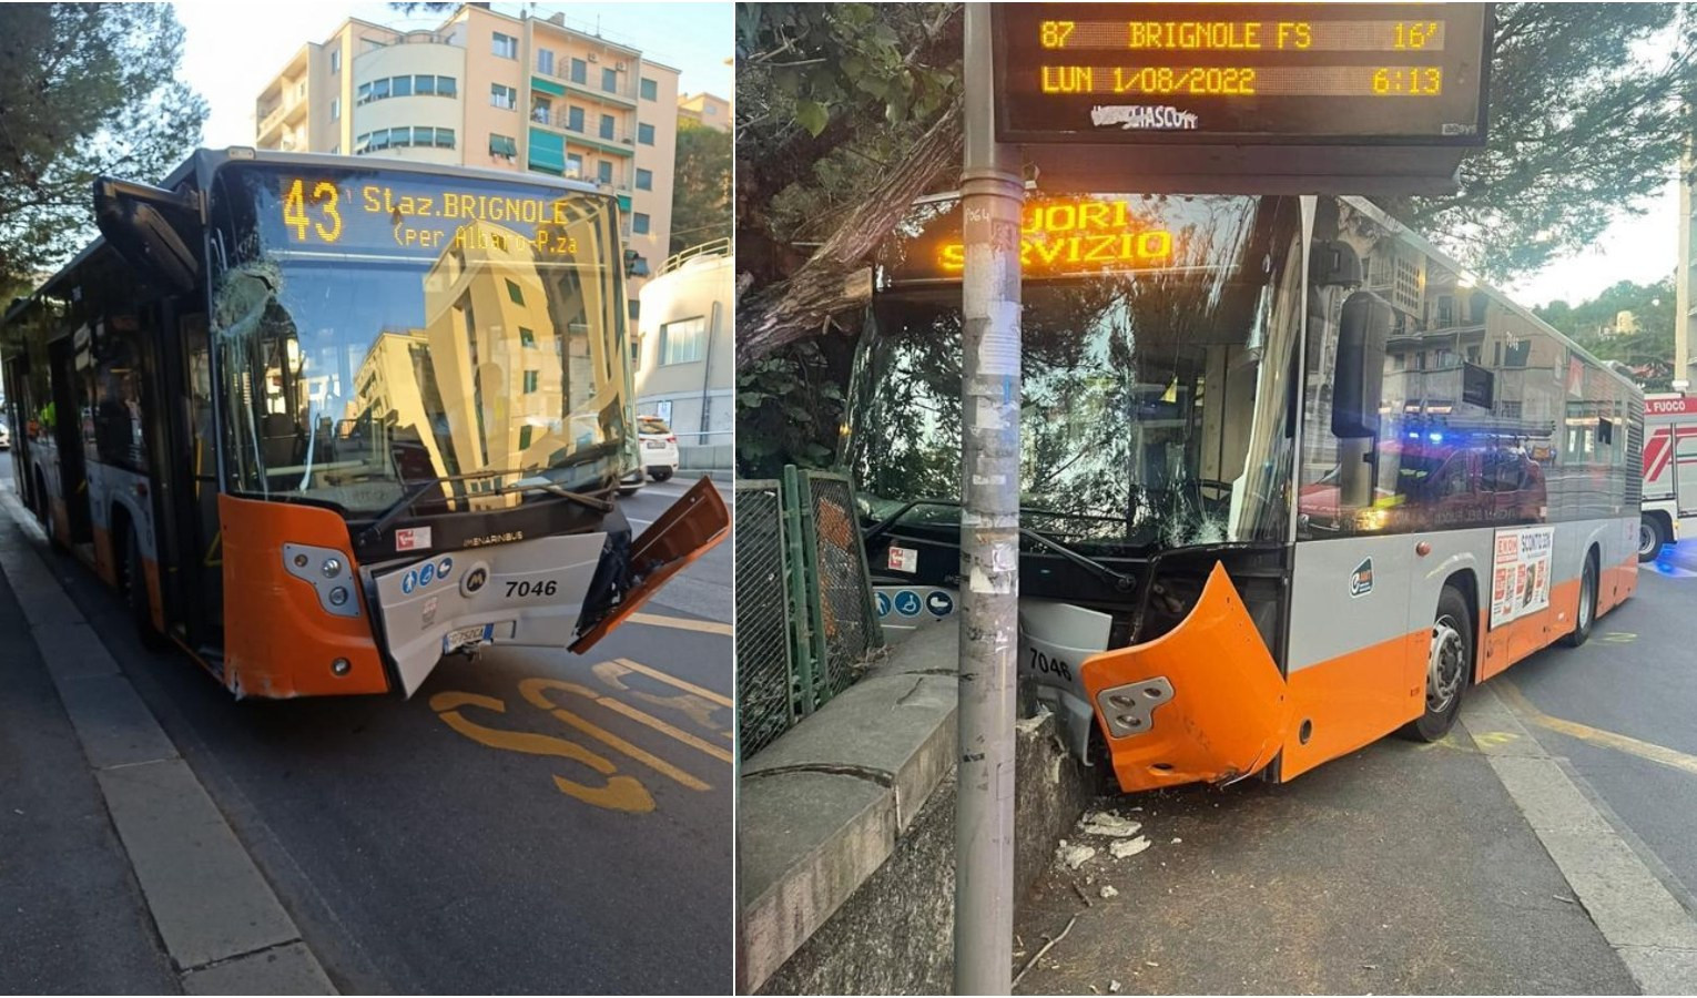
[[[736,482],[736,745],[753,755],[884,643],[847,477]]]

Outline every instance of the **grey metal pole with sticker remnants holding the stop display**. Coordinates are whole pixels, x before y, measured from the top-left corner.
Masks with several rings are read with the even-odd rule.
[[[955,803],[957,995],[1006,995],[1013,973],[1013,696],[1020,609],[1020,207],[996,144],[989,5],[966,5],[961,217],[961,686]]]

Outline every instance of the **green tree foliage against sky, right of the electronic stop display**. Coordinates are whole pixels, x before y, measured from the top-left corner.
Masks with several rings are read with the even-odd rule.
[[[1488,146],[1449,197],[1388,205],[1492,280],[1585,248],[1673,178],[1694,3],[1498,3]]]

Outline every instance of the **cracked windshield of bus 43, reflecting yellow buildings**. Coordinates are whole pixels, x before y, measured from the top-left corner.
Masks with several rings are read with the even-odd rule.
[[[611,199],[380,166],[227,165],[214,190],[231,487],[370,516],[626,470]]]

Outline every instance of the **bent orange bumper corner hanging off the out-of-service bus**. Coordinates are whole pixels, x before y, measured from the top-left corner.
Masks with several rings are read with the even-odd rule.
[[[1079,674],[1129,793],[1259,772],[1290,726],[1285,677],[1222,565],[1181,625]]]

